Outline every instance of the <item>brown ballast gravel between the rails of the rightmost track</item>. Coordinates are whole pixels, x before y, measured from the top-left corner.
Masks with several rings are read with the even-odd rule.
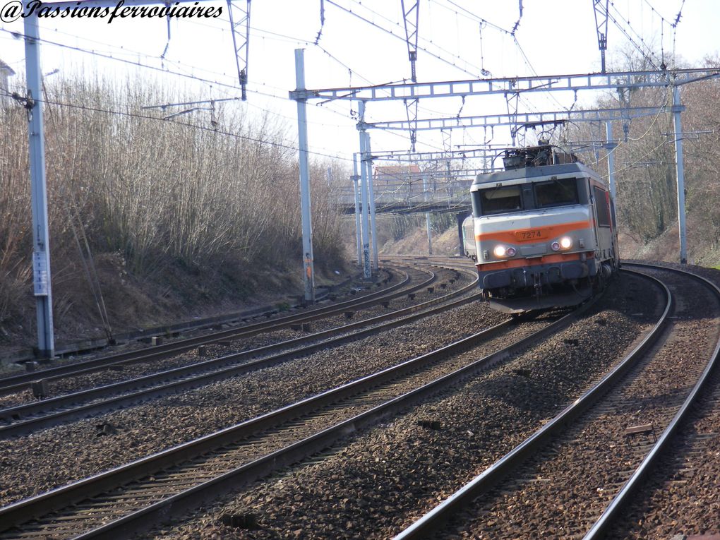
[[[674,274],[662,279],[677,302],[657,346],[512,481],[478,498],[438,538],[567,539],[590,530],[677,413],[719,338],[720,306],[707,289]],[[698,314],[703,300],[706,310]],[[654,431],[626,437],[626,428],[644,425]]]

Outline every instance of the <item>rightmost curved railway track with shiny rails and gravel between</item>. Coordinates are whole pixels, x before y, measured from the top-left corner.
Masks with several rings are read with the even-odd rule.
[[[396,540],[431,534],[590,540],[611,528],[682,426],[720,350],[720,289],[676,270],[624,266],[662,274],[667,282],[657,328],[592,390]],[[670,289],[678,292],[676,304]],[[708,293],[711,313],[703,313],[701,323],[696,307]]]

